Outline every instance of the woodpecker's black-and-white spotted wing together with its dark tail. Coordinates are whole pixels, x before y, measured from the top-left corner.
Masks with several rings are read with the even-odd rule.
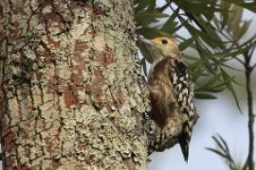
[[[192,78],[187,65],[182,60],[173,59],[171,65],[169,77],[174,86],[179,111],[188,116],[188,120],[184,122],[183,131],[178,139],[184,159],[188,161],[192,126],[197,118],[193,101]]]

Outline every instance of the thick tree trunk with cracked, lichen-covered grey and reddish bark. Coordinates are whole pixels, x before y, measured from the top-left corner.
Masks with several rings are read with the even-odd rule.
[[[4,169],[146,169],[133,0],[1,0]]]

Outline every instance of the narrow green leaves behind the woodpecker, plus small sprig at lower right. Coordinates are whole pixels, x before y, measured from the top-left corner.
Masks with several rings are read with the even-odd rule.
[[[156,6],[156,0],[136,0],[137,35],[152,39],[159,36],[175,37],[186,59],[195,83],[195,97],[215,99],[214,93],[229,90],[239,110],[234,85],[244,85],[229,75],[234,68],[229,60],[245,65],[245,55],[255,48],[256,34],[245,41],[251,21],[243,18],[245,9],[256,12],[256,2],[246,0],[166,0]],[[181,34],[185,29],[189,36]],[[256,31],[255,31],[256,32]],[[146,75],[151,56],[143,42],[137,41],[143,55],[141,65]],[[233,161],[229,146],[221,137],[213,137],[218,148],[208,148],[225,159],[230,169],[247,169],[247,162],[238,166]]]

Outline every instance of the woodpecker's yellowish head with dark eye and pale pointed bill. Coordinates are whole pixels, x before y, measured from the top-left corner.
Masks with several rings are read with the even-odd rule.
[[[157,37],[153,40],[143,41],[150,45],[150,52],[155,59],[159,58],[175,58],[181,57],[178,46],[173,38],[170,37]]]

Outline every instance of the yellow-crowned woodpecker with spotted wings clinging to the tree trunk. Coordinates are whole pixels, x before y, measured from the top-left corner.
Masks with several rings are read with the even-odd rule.
[[[188,161],[192,126],[197,120],[189,69],[181,59],[181,53],[173,38],[159,37],[152,41],[142,41],[150,44],[153,58],[148,88],[152,118],[161,129],[160,137],[155,142],[155,150],[163,151],[171,146],[168,141],[172,138],[172,121],[185,117],[178,143],[184,160]]]

